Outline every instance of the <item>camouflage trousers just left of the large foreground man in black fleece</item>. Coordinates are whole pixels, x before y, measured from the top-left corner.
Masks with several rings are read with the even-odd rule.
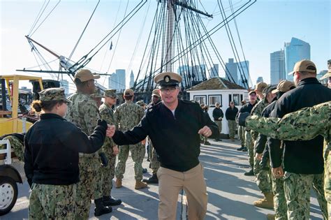
[[[287,219],[287,206],[284,192],[284,179],[276,179],[272,176],[272,193],[274,193],[274,219]]]

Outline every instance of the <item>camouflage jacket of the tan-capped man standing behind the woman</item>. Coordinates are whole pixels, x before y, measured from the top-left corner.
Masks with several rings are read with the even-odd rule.
[[[84,133],[91,135],[96,127],[100,114],[96,102],[87,94],[76,91],[68,97],[71,103],[66,112],[66,120],[78,126]],[[73,137],[75,138],[75,137]],[[80,156],[96,156],[95,154],[82,154]]]

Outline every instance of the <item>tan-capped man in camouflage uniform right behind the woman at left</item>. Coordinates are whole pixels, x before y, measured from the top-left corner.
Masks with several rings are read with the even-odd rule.
[[[94,93],[94,80],[100,78],[99,75],[93,75],[87,69],[81,69],[75,74],[75,85],[77,91],[68,97],[72,102],[68,108],[66,119],[78,126],[84,133],[90,135],[100,119],[100,114],[96,102],[90,97]],[[79,161],[80,182],[77,187],[77,198],[75,200],[77,212],[75,219],[88,219],[91,199],[94,196],[96,208],[94,215],[112,212],[111,207],[105,207],[102,203],[102,193],[97,184],[100,163],[98,153],[80,154]],[[94,195],[94,190],[98,193]]]

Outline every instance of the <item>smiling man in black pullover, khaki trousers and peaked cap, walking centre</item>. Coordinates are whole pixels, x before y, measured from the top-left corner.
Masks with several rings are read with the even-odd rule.
[[[177,98],[182,77],[177,73],[159,73],[162,101],[147,109],[140,124],[131,131],[116,131],[117,145],[133,145],[148,135],[161,163],[159,178],[159,219],[176,219],[178,193],[185,190],[189,219],[204,219],[207,212],[207,187],[199,162],[200,136],[218,134],[216,124],[203,114],[196,102]]]

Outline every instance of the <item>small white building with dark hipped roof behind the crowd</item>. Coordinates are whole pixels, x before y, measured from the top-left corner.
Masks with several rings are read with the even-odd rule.
[[[221,133],[226,136],[229,133],[228,122],[226,121],[226,109],[229,107],[230,101],[234,101],[235,107],[239,110],[240,102],[247,100],[248,95],[247,89],[223,78],[211,78],[191,87],[187,92],[190,94],[190,100],[209,105],[208,113],[212,120],[212,111],[215,108],[215,103],[218,102],[221,104],[221,110],[224,113]]]

